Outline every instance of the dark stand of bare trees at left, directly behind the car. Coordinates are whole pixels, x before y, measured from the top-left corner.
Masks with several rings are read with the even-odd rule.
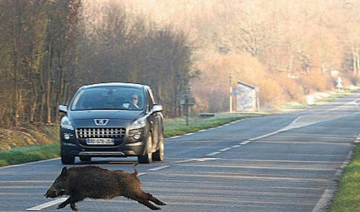
[[[0,1],[0,126],[54,123],[84,84],[150,85],[167,116],[193,77],[186,35],[108,1]]]

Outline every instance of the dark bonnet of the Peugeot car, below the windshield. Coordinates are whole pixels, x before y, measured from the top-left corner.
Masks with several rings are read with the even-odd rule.
[[[109,119],[103,127],[126,127],[143,114],[144,111],[139,110],[77,110],[67,112],[67,116],[75,128],[98,127],[94,119]]]

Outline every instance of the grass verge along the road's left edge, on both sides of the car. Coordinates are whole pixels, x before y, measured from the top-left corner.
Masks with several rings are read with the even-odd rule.
[[[201,129],[217,127],[235,120],[253,116],[259,116],[259,114],[219,114],[212,118],[190,118],[188,126],[185,124],[185,118],[166,119],[164,136],[171,137],[182,135]],[[44,128],[48,140],[58,140],[58,127],[49,127],[49,129],[46,129],[46,127]],[[17,135],[16,138],[20,139],[19,135]],[[13,146],[10,150],[0,150],[0,166],[57,158],[59,156],[60,144],[58,142],[51,144],[35,144],[22,147]]]

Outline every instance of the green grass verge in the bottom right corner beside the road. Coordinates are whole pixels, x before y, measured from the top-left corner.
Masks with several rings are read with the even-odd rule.
[[[329,211],[360,211],[360,145],[355,147],[351,162],[340,178],[339,187]]]

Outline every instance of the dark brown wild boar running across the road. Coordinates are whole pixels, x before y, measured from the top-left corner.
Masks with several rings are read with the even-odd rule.
[[[85,198],[112,199],[116,196],[134,199],[152,210],[161,209],[151,202],[159,206],[166,205],[164,202],[141,190],[140,180],[136,177],[138,175],[136,165],[134,164],[133,167],[134,173],[110,171],[97,166],[64,167],[44,196],[55,198],[69,195],[67,200],[59,204],[58,209],[70,204],[73,211],[77,211],[75,203]]]

